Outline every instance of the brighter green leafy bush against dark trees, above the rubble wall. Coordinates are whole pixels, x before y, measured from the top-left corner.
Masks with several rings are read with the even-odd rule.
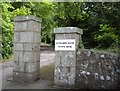
[[[101,30],[96,34],[95,39],[98,41],[99,48],[115,48],[118,45],[119,36],[115,34],[116,29],[111,28],[109,25],[100,24]]]

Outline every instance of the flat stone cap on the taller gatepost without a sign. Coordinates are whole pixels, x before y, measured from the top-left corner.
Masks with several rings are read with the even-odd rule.
[[[14,18],[15,22],[20,22],[20,21],[29,21],[29,20],[33,20],[33,21],[37,21],[37,22],[42,22],[42,19],[33,15],[28,15],[28,16],[16,16]]]

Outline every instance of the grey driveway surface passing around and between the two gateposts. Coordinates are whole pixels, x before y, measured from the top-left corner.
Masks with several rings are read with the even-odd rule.
[[[55,52],[51,51],[41,51],[40,56],[40,67],[52,64],[55,62]],[[38,80],[31,84],[25,83],[15,83],[8,81],[11,79],[13,74],[13,62],[7,62],[4,64],[0,63],[0,89],[54,89],[52,83],[47,80]]]

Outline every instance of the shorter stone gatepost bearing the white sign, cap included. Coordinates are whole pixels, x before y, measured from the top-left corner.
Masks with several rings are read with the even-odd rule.
[[[75,87],[76,52],[83,31],[77,27],[55,28],[54,85]]]

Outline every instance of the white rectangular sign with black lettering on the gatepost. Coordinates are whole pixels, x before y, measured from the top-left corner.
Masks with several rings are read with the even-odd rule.
[[[75,39],[55,40],[55,51],[73,51],[75,50]]]

